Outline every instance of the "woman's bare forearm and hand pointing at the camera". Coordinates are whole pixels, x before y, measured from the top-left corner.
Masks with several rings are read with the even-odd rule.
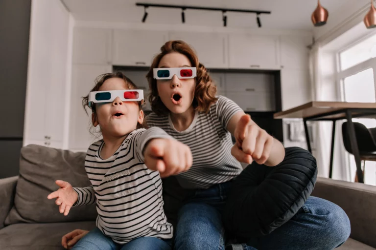
[[[280,141],[260,128],[251,116],[239,111],[233,115],[227,125],[227,130],[235,137],[236,144],[231,150],[239,162],[274,167],[284,158],[284,147]]]

